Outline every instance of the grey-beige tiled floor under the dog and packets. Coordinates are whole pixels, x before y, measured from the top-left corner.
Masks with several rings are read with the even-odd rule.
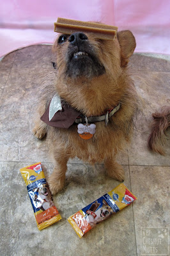
[[[79,159],[69,161],[65,188],[54,196],[62,220],[39,231],[19,172],[38,161],[47,176],[52,172],[46,141],[32,134],[36,95],[42,83],[54,79],[50,52],[50,45],[36,45],[12,52],[0,62],[1,255],[144,255],[143,228],[155,232],[163,228],[160,232],[164,232],[169,227],[169,138],[166,157],[147,148],[151,113],[170,103],[169,56],[134,54],[130,60],[130,72],[145,107],[127,154],[118,159],[125,168],[125,185],[138,200],[79,239],[66,219],[119,182],[105,175],[102,164],[93,169]],[[155,249],[153,255],[167,255],[167,232],[160,235],[164,246],[155,245],[159,251]],[[158,239],[157,233],[154,236]]]

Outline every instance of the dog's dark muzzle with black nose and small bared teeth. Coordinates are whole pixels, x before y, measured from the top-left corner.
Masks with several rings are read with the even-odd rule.
[[[73,33],[68,41],[70,44],[66,54],[66,76],[93,78],[104,74],[104,65],[98,60],[93,46],[84,33]]]

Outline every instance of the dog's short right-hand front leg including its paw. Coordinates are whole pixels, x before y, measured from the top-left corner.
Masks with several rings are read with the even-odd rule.
[[[125,179],[123,167],[116,162],[115,157],[105,159],[105,168],[109,177],[120,182],[123,182]]]

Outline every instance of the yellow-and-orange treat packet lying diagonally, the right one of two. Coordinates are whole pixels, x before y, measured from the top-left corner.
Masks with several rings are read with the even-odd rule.
[[[135,197],[122,183],[68,218],[69,223],[81,238],[101,221],[130,205]]]

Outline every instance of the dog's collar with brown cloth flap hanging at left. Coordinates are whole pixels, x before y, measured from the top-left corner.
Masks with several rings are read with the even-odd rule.
[[[50,106],[50,104],[49,104]],[[45,110],[45,113],[40,118],[46,124],[57,127],[57,128],[69,128],[71,125],[75,124],[88,124],[100,122],[105,120],[105,124],[107,125],[109,122],[109,118],[114,115],[119,109],[120,104],[116,106],[116,108],[110,109],[106,111],[104,115],[101,116],[84,116],[76,109],[73,109],[68,104],[62,104],[62,110],[59,110],[55,113],[51,120],[49,120],[49,106]]]

